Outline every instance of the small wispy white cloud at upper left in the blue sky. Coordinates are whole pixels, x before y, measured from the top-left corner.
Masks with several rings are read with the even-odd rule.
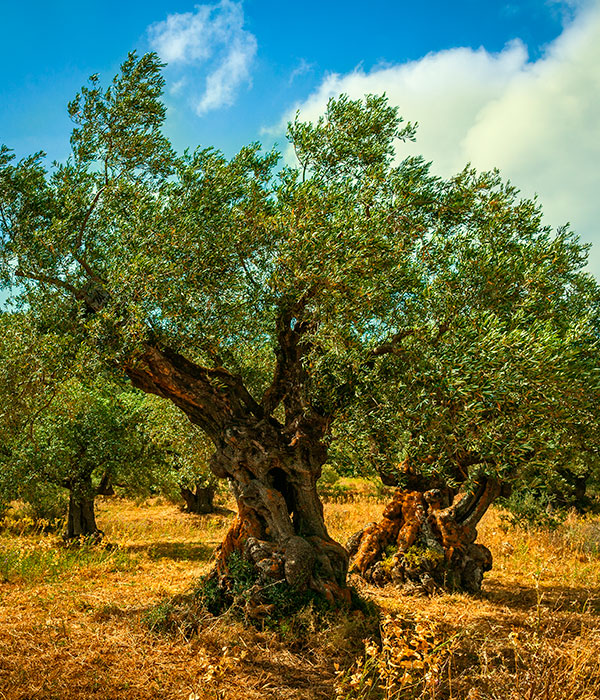
[[[256,39],[244,29],[241,0],[196,5],[193,12],[151,25],[148,34],[152,48],[172,66],[208,70],[204,90],[195,100],[200,115],[233,104],[239,88],[251,81]]]

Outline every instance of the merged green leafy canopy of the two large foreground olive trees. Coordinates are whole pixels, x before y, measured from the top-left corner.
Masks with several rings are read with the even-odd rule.
[[[258,144],[174,153],[163,87],[157,56],[131,54],[70,104],[65,163],[0,151],[0,279],[21,308],[104,362],[183,354],[221,445],[241,396],[290,444],[322,429],[340,469],[401,480],[408,460],[467,489],[597,470],[600,295],[567,227],[496,171],[399,159],[415,130],[385,97],[297,117],[281,167]]]

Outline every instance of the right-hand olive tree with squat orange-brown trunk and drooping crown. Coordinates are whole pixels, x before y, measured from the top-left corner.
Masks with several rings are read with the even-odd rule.
[[[387,381],[376,382],[354,432],[368,436],[363,464],[398,488],[382,520],[348,542],[355,571],[375,583],[477,591],[492,557],[476,527],[498,496],[514,491],[518,501],[534,474],[538,487],[556,488],[575,464],[597,472],[598,339],[581,320],[522,327],[475,314],[381,363]]]

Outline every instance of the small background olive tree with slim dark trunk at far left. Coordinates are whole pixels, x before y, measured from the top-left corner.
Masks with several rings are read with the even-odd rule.
[[[66,539],[100,537],[96,496],[113,495],[115,485],[148,493],[165,478],[165,454],[151,439],[149,417],[143,394],[106,380],[85,386],[72,379],[13,441],[3,479],[34,507],[48,485],[67,489]]]

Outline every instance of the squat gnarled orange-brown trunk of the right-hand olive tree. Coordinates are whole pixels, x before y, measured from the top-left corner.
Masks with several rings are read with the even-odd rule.
[[[475,543],[476,525],[500,495],[499,483],[482,477],[458,497],[450,488],[415,486],[399,488],[382,520],[350,538],[350,570],[377,585],[476,593],[492,568],[489,549]]]

